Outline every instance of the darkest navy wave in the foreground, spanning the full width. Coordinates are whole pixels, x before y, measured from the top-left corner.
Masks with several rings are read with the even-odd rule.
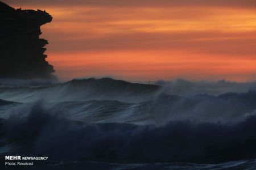
[[[156,126],[70,121],[40,103],[27,111],[2,122],[5,138],[26,145],[16,154],[114,163],[220,163],[256,156],[254,115],[222,124],[173,120]]]

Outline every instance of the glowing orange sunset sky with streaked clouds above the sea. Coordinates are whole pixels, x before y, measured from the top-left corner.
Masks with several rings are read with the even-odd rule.
[[[60,80],[256,80],[256,0],[23,0]]]

